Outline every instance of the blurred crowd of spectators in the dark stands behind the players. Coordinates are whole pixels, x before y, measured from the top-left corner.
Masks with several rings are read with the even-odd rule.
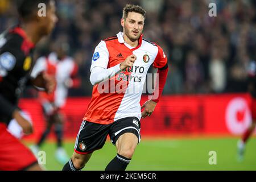
[[[0,31],[18,23],[14,0],[0,1]],[[217,16],[210,17],[210,2]],[[81,86],[71,96],[92,92],[89,81],[94,47],[122,31],[123,0],[58,0],[59,22],[41,42],[36,57],[52,43],[65,41],[79,65]],[[163,47],[170,70],[164,94],[246,91],[246,68],[256,59],[256,1],[254,0],[131,0],[146,11],[144,38]],[[36,58],[35,57],[35,58]],[[154,72],[151,69],[151,72]]]

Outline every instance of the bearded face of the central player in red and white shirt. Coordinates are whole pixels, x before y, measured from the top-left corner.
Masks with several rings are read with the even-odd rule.
[[[123,32],[131,41],[136,41],[142,34],[144,18],[142,14],[129,12],[126,19],[121,19]]]

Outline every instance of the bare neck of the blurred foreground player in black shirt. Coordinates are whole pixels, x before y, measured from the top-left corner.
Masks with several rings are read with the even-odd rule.
[[[26,32],[27,38],[30,40],[30,42],[37,44],[42,38],[42,36],[38,34],[38,30],[35,28],[34,24],[26,23],[22,24],[20,27]]]

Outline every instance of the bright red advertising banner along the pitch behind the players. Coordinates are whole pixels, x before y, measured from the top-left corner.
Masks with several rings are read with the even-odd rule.
[[[142,96],[141,105],[147,100]],[[61,110],[65,119],[65,137],[75,138],[90,97],[68,98]],[[249,94],[208,94],[163,96],[151,117],[141,119],[141,133],[146,136],[175,134],[241,135],[250,125]],[[22,99],[20,108],[28,114],[38,138],[45,127],[42,107],[35,99]]]

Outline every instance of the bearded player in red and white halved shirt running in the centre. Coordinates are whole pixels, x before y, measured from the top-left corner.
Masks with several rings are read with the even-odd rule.
[[[63,170],[84,168],[93,151],[104,146],[107,135],[116,146],[117,155],[105,170],[122,171],[130,163],[141,140],[140,119],[154,111],[168,72],[163,49],[142,38],[145,15],[142,7],[126,5],[121,19],[123,32],[102,40],[96,47],[90,68],[90,81],[94,85],[92,100],[77,134],[75,152]],[[154,91],[158,97],[141,107],[143,84],[151,64],[158,68],[159,90]],[[113,82],[114,90],[108,86]]]

